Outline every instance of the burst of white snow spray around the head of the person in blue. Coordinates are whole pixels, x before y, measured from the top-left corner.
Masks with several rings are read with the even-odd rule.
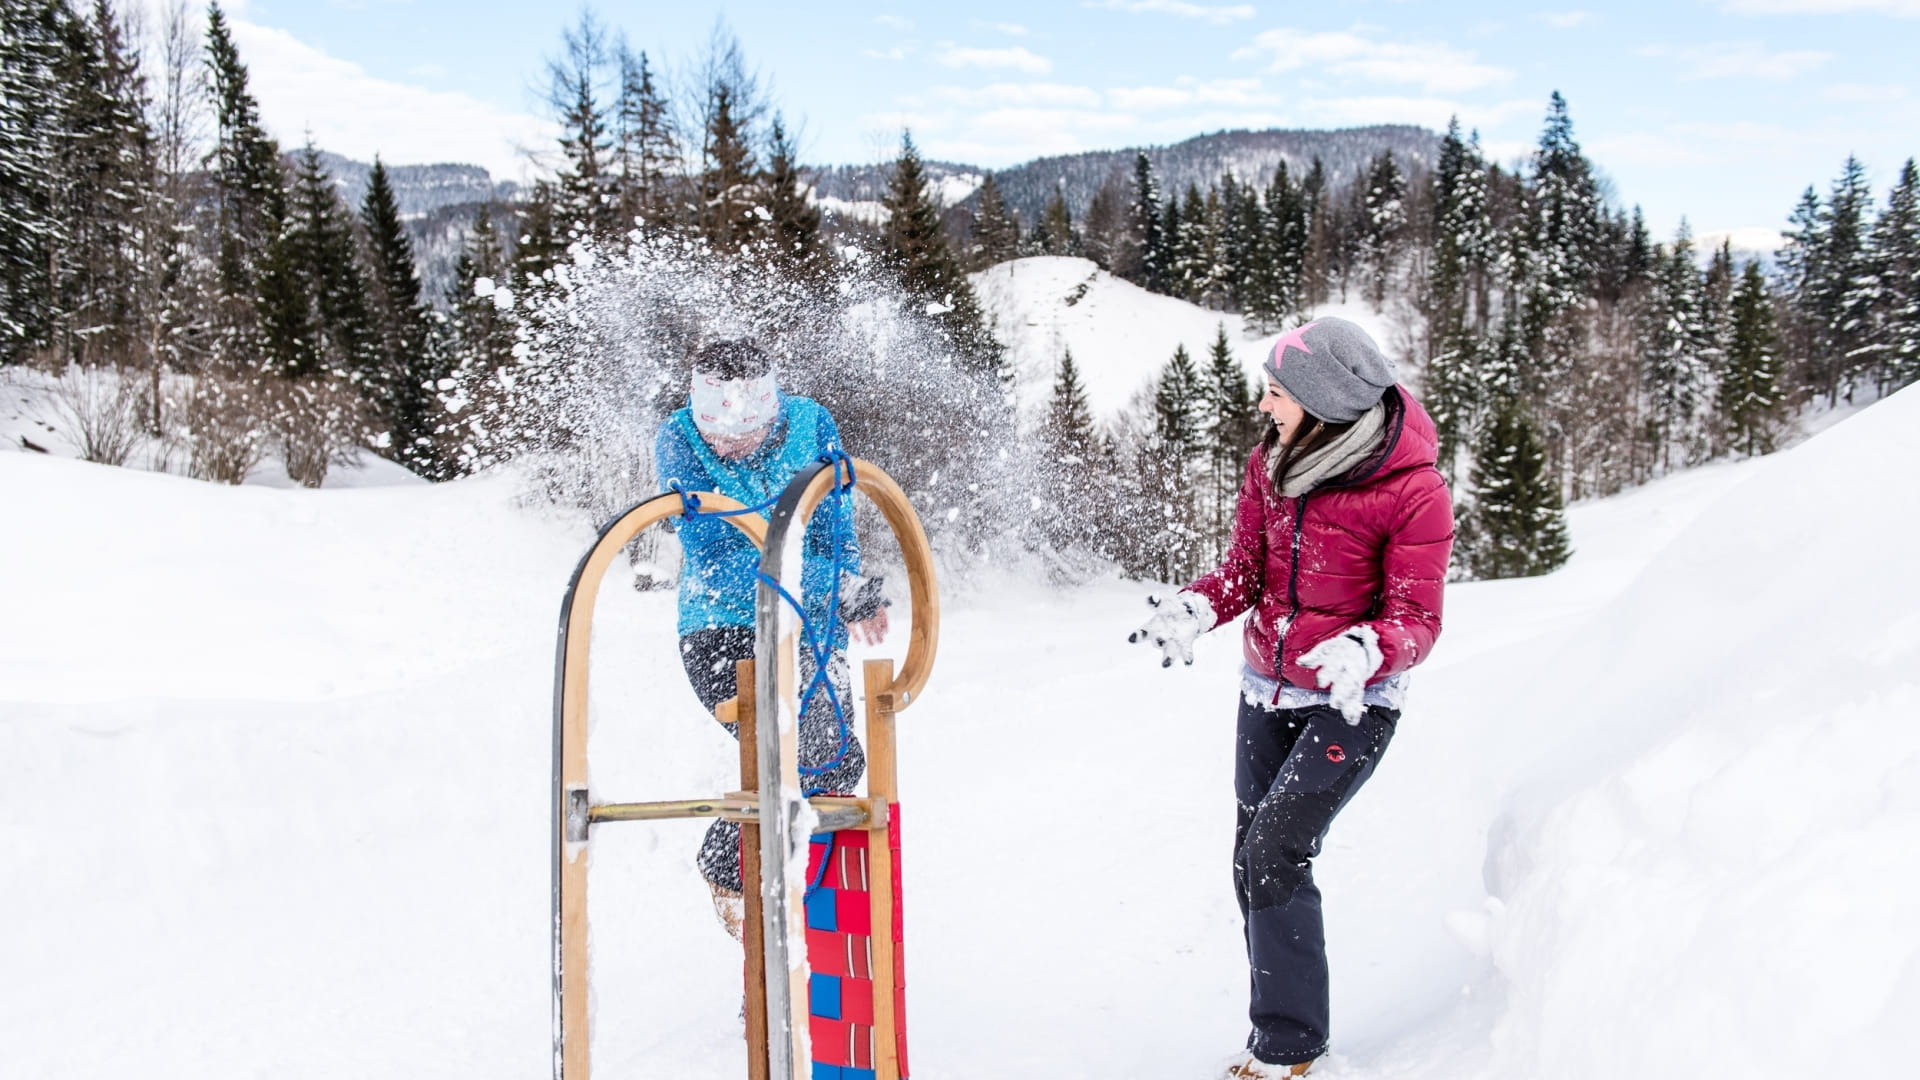
[[[1006,388],[970,369],[931,306],[912,302],[864,254],[797,281],[751,246],[714,252],[678,236],[578,242],[516,294],[513,361],[444,382],[449,429],[470,469],[516,461],[541,502],[595,521],[655,492],[653,442],[685,405],[691,357],[751,338],[780,384],[826,405],[847,450],[887,469],[925,519],[943,563],[1020,546],[1033,469],[1023,469]],[[891,534],[862,513],[862,542]]]

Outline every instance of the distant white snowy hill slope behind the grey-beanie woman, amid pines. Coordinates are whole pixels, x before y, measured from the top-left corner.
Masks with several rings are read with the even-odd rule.
[[[1160,375],[1175,348],[1185,344],[1194,363],[1204,367],[1221,325],[1248,377],[1260,375],[1279,338],[1248,336],[1240,315],[1148,292],[1106,273],[1092,259],[1014,259],[975,273],[972,281],[995,338],[1006,346],[1023,411],[1046,405],[1060,354],[1068,348],[1087,380],[1087,402],[1104,421]],[[1363,304],[1325,306],[1313,315],[1352,319],[1367,327],[1382,348],[1392,352],[1396,346],[1386,321]]]

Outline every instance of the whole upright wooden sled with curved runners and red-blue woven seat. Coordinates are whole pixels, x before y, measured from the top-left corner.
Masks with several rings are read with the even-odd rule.
[[[864,798],[803,798],[797,648],[818,648],[795,598],[801,536],[826,500],[864,492],[906,561],[912,628],[899,676],[864,665]],[[726,496],[668,492],[609,523],[561,603],[553,692],[553,1074],[589,1080],[588,861],[591,832],[616,821],[720,817],[741,822],[747,901],[747,1074],[751,1080],[904,1080],[900,819],[893,717],[920,698],[939,642],[933,552],[900,486],[876,465],[822,459],[781,492],[772,517]],[[707,799],[618,803],[588,790],[588,648],[593,603],[614,555],[676,515],[716,515],[760,548],[755,659],[714,713],[739,724],[741,790]],[[837,578],[837,575],[835,575]],[[814,665],[824,671],[824,663]],[[812,690],[812,688],[808,688]],[[831,692],[829,692],[831,694]],[[837,711],[851,701],[833,701]],[[847,717],[843,717],[845,721]]]

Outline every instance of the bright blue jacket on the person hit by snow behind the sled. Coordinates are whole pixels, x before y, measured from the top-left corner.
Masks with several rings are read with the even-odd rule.
[[[680,484],[687,492],[720,492],[745,505],[758,505],[780,496],[793,477],[839,448],[839,429],[833,417],[812,398],[781,394],[774,430],[758,450],[737,461],[728,461],[707,446],[693,427],[693,411],[680,409],[664,425],[653,448],[660,475],[660,490]],[[760,511],[770,519],[774,507]],[[801,607],[822,632],[828,617],[828,598],[837,588],[833,580],[833,532],[839,523],[841,571],[860,573],[860,542],[852,534],[851,500],[826,500],[806,525],[801,546]],[[680,548],[680,634],[708,626],[753,626],[753,603],[758,590],[760,550],[720,517],[678,519]],[[835,621],[839,623],[839,621]],[[847,648],[847,626],[831,628],[831,648]]]

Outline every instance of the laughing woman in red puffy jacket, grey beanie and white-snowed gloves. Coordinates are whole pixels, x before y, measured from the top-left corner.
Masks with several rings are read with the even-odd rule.
[[[1244,630],[1233,876],[1254,1032],[1233,1080],[1300,1076],[1327,1051],[1327,945],[1313,855],[1394,736],[1407,671],[1440,636],[1453,509],[1434,425],[1365,331],[1283,336],[1225,561],[1133,640],[1192,663],[1198,634]]]

